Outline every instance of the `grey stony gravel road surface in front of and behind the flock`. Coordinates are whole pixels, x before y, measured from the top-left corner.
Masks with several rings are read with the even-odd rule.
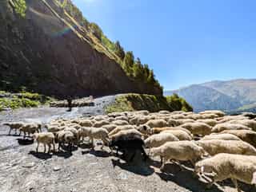
[[[59,116],[75,117],[102,112],[114,96],[97,99],[95,107],[19,109],[0,113],[0,121],[42,120],[47,122]],[[103,102],[104,101],[104,102]],[[206,190],[206,183],[194,177],[189,167],[166,165],[166,173],[159,170],[158,161],[142,163],[137,155],[134,163],[126,163],[110,155],[106,147],[95,151],[88,143],[74,148],[72,154],[62,151],[51,155],[35,153],[36,144],[21,136],[6,135],[8,127],[0,126],[0,191],[1,192],[234,192],[230,181]],[[39,148],[42,151],[42,147]],[[158,159],[154,159],[158,160]],[[242,186],[246,192],[255,191]]]

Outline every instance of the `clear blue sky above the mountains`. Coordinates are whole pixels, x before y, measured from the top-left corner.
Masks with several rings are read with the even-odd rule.
[[[112,41],[150,65],[166,90],[255,78],[254,0],[73,0]]]

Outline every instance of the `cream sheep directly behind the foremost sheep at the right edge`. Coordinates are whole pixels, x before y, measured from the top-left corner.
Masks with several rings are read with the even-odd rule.
[[[218,153],[229,153],[238,155],[256,155],[256,149],[249,143],[242,140],[199,140],[196,141],[198,146],[204,148],[210,155]]]

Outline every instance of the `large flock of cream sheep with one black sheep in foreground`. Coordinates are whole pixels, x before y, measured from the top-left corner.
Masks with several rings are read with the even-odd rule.
[[[24,138],[33,139],[58,150],[79,146],[88,137],[94,149],[94,139],[102,140],[103,147],[122,151],[122,155],[134,159],[140,151],[146,160],[160,157],[162,167],[169,161],[181,165],[190,161],[194,172],[206,178],[210,185],[231,178],[238,182],[256,184],[256,119],[252,114],[225,116],[221,111],[150,113],[114,112],[105,116],[93,116],[76,120],[53,120],[42,132],[40,123],[4,123]],[[10,134],[9,132],[9,134]],[[36,151],[38,151],[38,146]],[[144,150],[147,148],[148,152]]]

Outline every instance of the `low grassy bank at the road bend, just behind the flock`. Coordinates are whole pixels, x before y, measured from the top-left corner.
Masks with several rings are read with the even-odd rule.
[[[158,112],[168,111],[191,111],[193,108],[180,97],[177,96],[151,96],[145,94],[125,94],[116,98],[114,104],[106,108],[106,112],[133,112],[138,110],[148,110]]]

